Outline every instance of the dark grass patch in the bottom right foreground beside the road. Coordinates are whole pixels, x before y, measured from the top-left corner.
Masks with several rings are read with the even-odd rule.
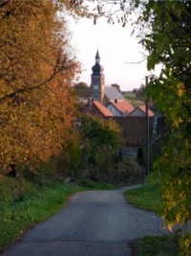
[[[138,241],[137,256],[178,256],[178,237],[144,237]]]

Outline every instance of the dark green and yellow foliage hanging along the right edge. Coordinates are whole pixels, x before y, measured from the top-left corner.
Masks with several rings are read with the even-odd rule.
[[[142,44],[149,52],[148,69],[162,63],[159,78],[149,83],[147,95],[165,115],[168,141],[155,163],[163,194],[161,215],[168,227],[191,219],[191,3],[149,2],[143,15],[151,32]],[[190,235],[185,235],[188,248]]]

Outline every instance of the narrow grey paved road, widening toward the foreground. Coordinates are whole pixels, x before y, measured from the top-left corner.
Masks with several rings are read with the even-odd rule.
[[[131,255],[133,240],[164,230],[156,215],[127,204],[124,190],[75,195],[62,211],[29,231],[3,256]]]

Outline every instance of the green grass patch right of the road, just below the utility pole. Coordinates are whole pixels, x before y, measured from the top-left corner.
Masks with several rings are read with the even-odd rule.
[[[138,208],[157,212],[161,205],[159,185],[156,183],[145,183],[141,187],[124,192],[128,202]]]

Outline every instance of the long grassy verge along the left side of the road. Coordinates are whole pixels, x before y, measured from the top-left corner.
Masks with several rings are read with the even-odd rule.
[[[74,193],[116,188],[82,178],[73,185],[54,178],[44,179],[44,183],[38,181],[0,175],[0,251],[13,244],[27,228],[60,210]]]

